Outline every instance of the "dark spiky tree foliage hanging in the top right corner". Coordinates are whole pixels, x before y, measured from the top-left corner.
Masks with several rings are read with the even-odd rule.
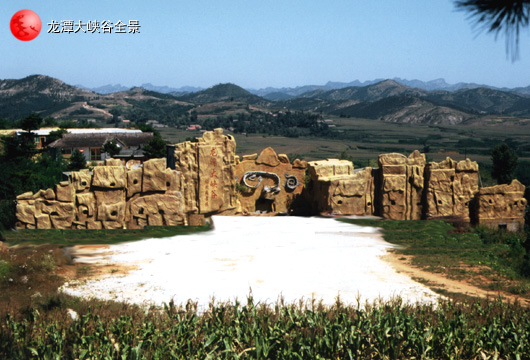
[[[529,0],[456,0],[456,8],[470,13],[477,25],[495,33],[504,32],[506,54],[517,60],[519,57],[519,33],[528,26],[530,18]]]

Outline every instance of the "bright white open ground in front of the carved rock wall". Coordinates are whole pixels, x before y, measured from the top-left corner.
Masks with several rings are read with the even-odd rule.
[[[392,247],[377,229],[331,218],[213,218],[207,233],[112,245],[77,262],[138,265],[127,275],[67,283],[64,292],[142,305],[188,299],[206,309],[238,299],[333,304],[389,300],[436,302],[437,294],[397,273],[381,257]],[[361,305],[362,305],[361,304]]]

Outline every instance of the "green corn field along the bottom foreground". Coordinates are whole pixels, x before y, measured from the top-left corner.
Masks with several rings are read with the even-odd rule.
[[[60,301],[59,301],[60,302]],[[97,304],[97,303],[96,303]],[[1,319],[2,359],[528,359],[530,310],[500,300],[332,306],[60,304]]]

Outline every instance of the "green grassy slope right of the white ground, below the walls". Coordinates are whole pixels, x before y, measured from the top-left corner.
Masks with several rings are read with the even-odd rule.
[[[385,240],[400,245],[398,253],[414,256],[413,264],[425,270],[471,280],[488,290],[530,297],[525,233],[481,227],[457,231],[444,221],[340,221],[382,228]]]

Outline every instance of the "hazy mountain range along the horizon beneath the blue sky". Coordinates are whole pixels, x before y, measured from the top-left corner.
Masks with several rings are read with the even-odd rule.
[[[14,121],[38,112],[59,119],[109,121],[117,114],[133,121],[153,119],[176,126],[185,125],[182,118],[193,113],[204,118],[286,109],[414,124],[460,124],[487,116],[530,117],[530,87],[449,85],[443,79],[328,82],[323,86],[260,90],[245,90],[235,84],[202,90],[151,84],[105,88],[120,91],[103,94],[103,88],[83,89],[44,75],[0,80],[0,118]]]

